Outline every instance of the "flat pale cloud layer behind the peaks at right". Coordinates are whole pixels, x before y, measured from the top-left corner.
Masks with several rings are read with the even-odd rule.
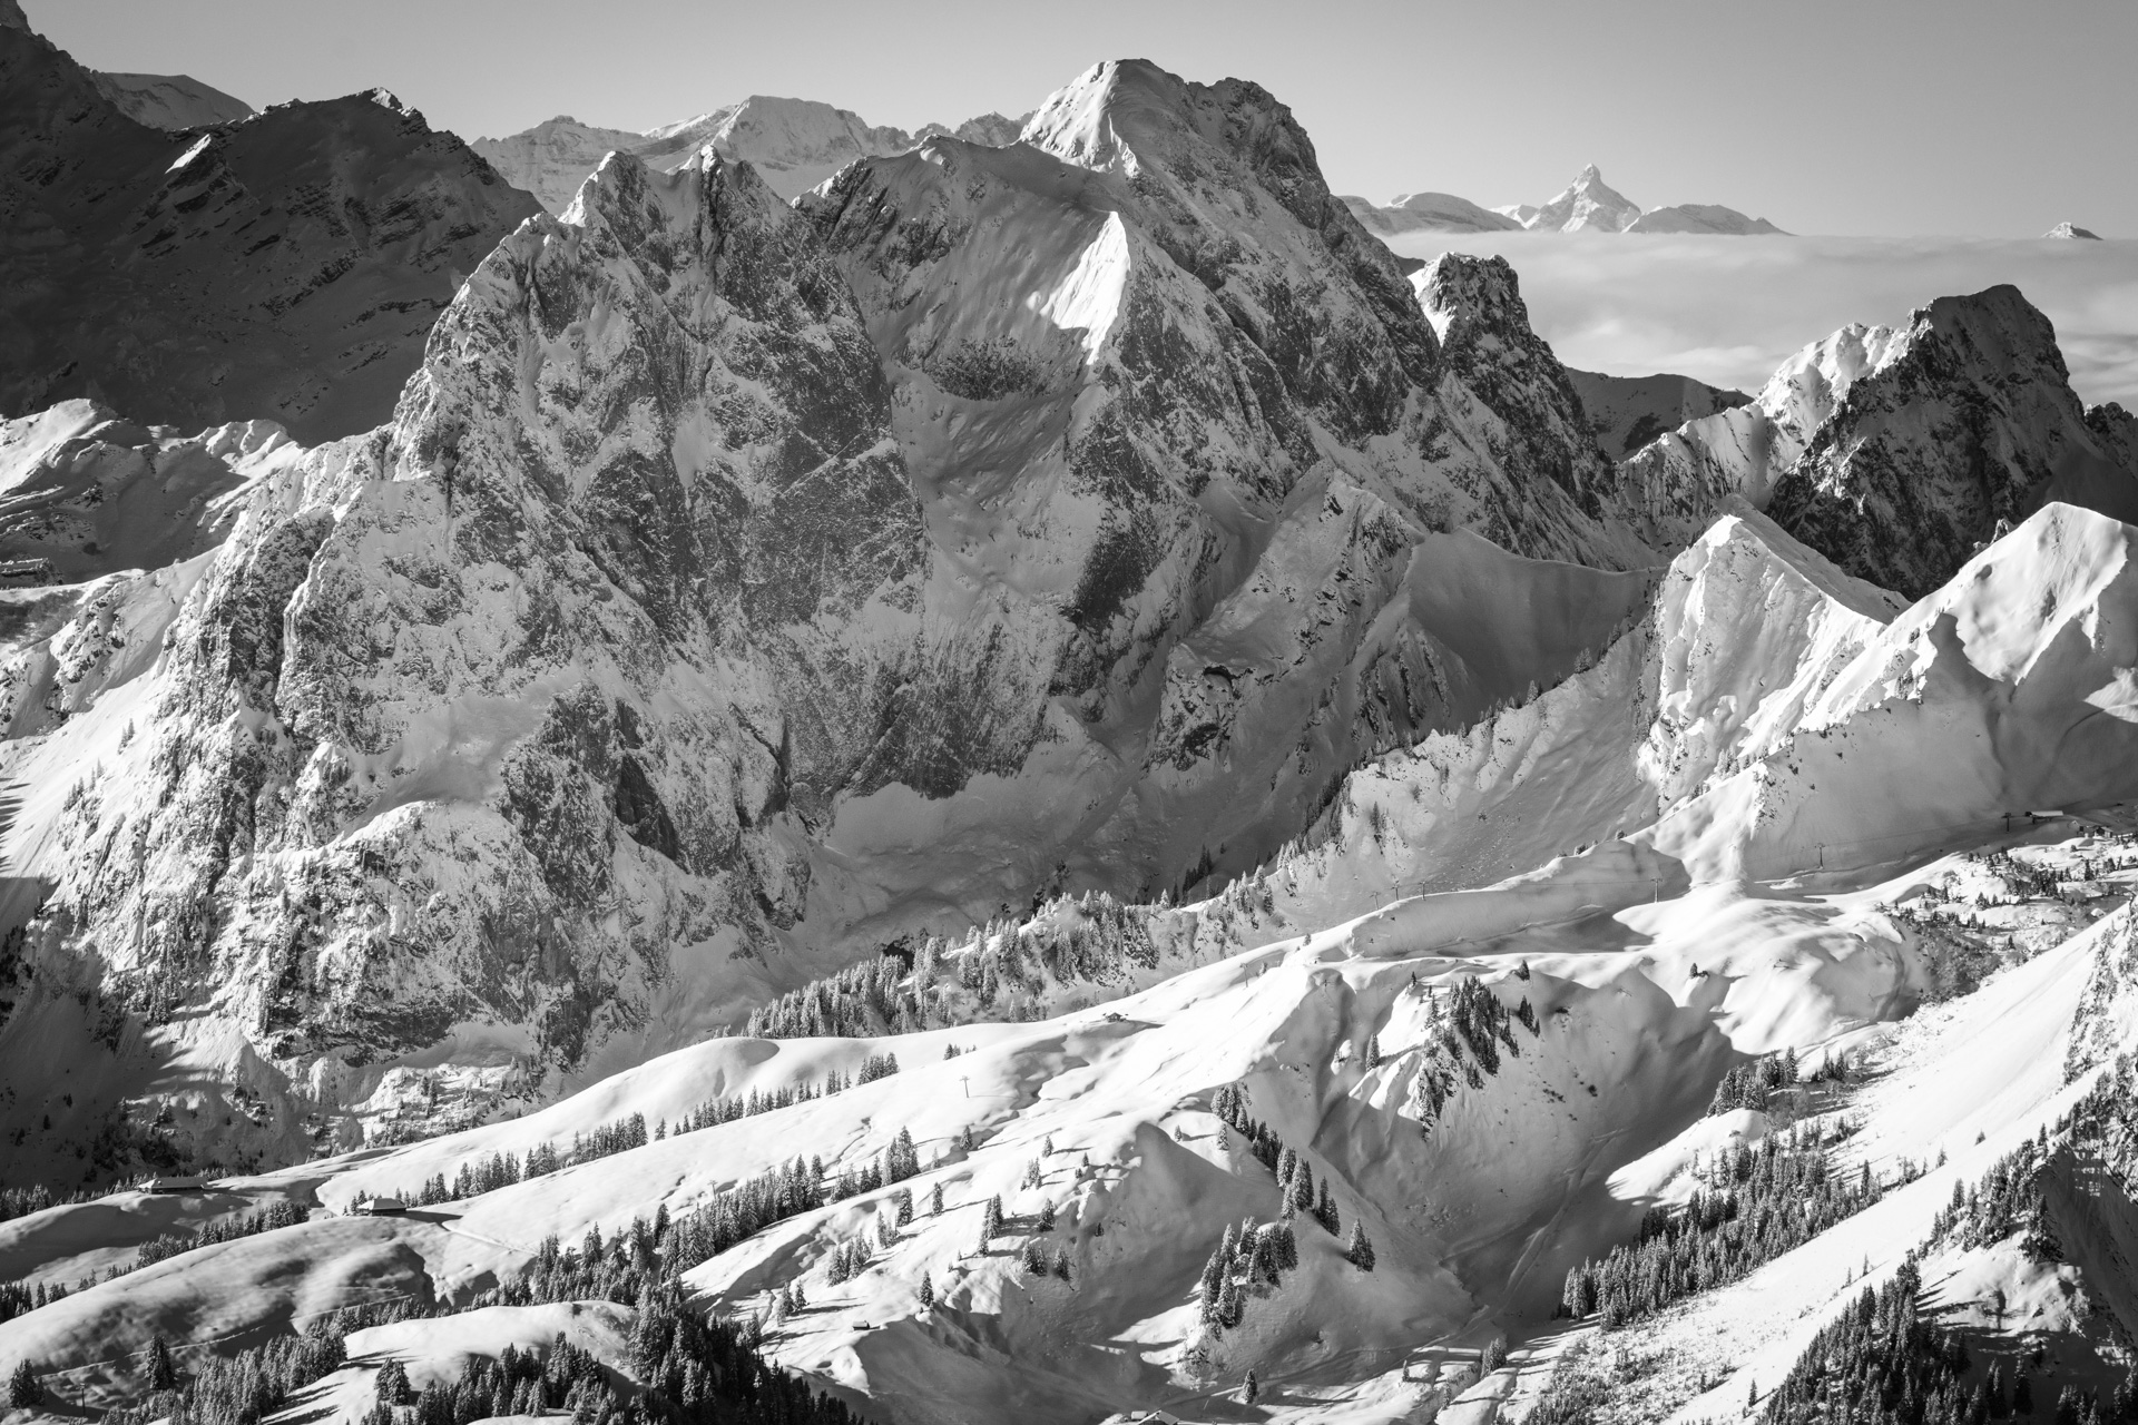
[[[1933,297],[2012,282],[2057,325],[2078,395],[2138,410],[2138,241],[1409,233],[1390,246],[1503,254],[1567,365],[1740,391],[1837,327],[1899,325]]]

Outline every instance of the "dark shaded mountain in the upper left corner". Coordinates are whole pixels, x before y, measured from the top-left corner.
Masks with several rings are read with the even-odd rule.
[[[387,419],[438,312],[534,201],[385,92],[205,135],[137,124],[0,26],[0,410]]]

